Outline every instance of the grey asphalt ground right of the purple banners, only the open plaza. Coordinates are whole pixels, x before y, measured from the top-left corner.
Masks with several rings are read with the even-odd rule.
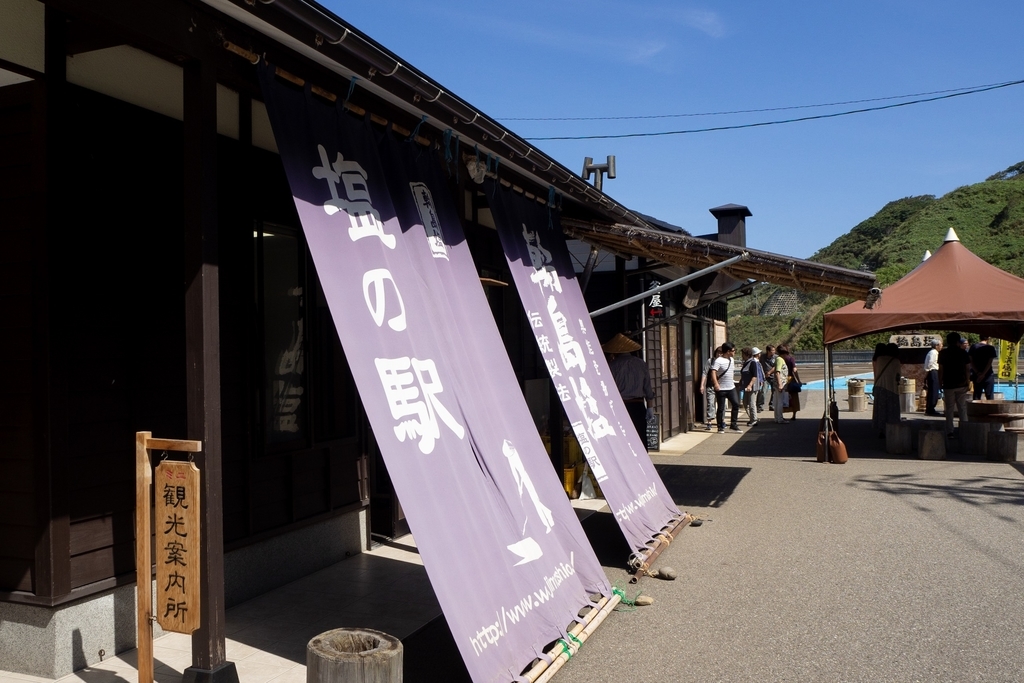
[[[1019,463],[888,457],[847,414],[864,445],[819,464],[811,393],[807,419],[654,456],[707,521],[655,563],[680,579],[642,580],[654,604],[613,614],[555,680],[1024,680]]]

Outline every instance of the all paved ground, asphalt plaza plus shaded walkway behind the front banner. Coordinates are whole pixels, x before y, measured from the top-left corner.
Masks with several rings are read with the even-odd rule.
[[[1022,463],[890,457],[869,413],[843,413],[850,462],[819,464],[822,392],[803,397],[795,423],[691,432],[653,456],[706,519],[655,563],[675,582],[630,586],[611,515],[578,503],[597,509],[580,514],[609,579],[655,602],[612,613],[556,683],[1024,680]],[[227,625],[242,683],[304,681],[304,643],[339,626],[402,638],[408,683],[465,680],[410,537],[232,607]],[[181,680],[189,650],[156,641],[159,683]],[[134,664],[132,650],[62,680],[135,683]]]

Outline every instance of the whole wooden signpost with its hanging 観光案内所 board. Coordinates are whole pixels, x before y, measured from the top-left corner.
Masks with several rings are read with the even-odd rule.
[[[163,461],[157,467],[157,610],[154,614],[154,501],[151,451],[199,453],[202,441],[135,434],[135,571],[138,605],[138,681],[153,683],[153,621],[165,631],[190,634],[200,627],[200,472],[191,462]]]

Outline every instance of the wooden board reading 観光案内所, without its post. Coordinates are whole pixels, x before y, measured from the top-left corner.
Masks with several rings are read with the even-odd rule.
[[[163,461],[154,473],[157,623],[191,633],[200,626],[200,480],[193,463]]]

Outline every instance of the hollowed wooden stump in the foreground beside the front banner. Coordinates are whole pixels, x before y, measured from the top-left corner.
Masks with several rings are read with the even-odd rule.
[[[401,683],[402,645],[373,629],[335,629],[306,645],[306,683]]]

